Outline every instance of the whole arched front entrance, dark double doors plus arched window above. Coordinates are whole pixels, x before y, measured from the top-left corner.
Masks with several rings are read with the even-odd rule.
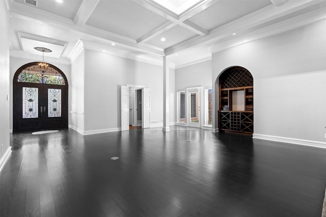
[[[68,82],[65,74],[48,64],[20,67],[13,80],[13,132],[68,127]]]

